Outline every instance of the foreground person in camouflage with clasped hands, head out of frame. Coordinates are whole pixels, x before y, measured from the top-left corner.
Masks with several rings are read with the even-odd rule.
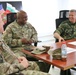
[[[50,75],[39,70],[35,62],[17,57],[4,41],[0,41],[0,75]]]

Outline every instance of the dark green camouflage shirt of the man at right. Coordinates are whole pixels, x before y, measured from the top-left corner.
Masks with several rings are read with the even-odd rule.
[[[69,20],[62,22],[55,30],[65,40],[76,38],[76,23],[71,23]]]

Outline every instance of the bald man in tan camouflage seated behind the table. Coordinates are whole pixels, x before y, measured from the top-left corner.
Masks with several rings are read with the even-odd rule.
[[[38,41],[37,31],[27,22],[26,12],[21,10],[17,13],[17,19],[3,32],[3,39],[18,57],[25,56],[21,52],[22,49],[31,48],[32,43]],[[37,64],[40,69],[43,67],[41,70],[44,72],[48,72],[50,69],[50,65],[45,62],[37,62]]]

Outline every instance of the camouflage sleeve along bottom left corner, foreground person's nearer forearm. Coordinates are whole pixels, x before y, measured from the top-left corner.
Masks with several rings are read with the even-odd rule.
[[[21,64],[9,64],[7,62],[0,64],[0,73],[1,75],[8,75],[15,72],[18,72],[19,70],[25,69]]]

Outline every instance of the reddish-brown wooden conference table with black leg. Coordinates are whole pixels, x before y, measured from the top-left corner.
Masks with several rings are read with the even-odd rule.
[[[76,49],[76,45],[69,43],[69,42],[74,42],[74,41],[76,41],[76,39],[67,40],[66,41],[67,47]],[[53,47],[52,48],[53,50],[61,48],[61,42],[50,44],[50,47]],[[37,58],[38,60],[42,60],[50,65],[54,65],[54,66],[60,68],[60,70],[61,70],[60,75],[71,75],[70,69],[76,66],[76,51],[68,53],[67,61],[65,61],[65,62],[62,60],[51,59],[50,55],[47,52],[42,53],[42,54],[33,54],[33,53],[31,53],[31,51],[28,51],[25,49],[23,49],[22,52],[24,52],[25,54],[28,54],[34,58]]]

